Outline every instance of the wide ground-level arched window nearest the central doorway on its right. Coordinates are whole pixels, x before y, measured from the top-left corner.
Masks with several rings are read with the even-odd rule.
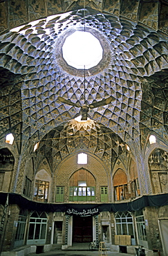
[[[131,235],[134,240],[133,218],[131,212],[118,212],[115,214],[116,235]]]

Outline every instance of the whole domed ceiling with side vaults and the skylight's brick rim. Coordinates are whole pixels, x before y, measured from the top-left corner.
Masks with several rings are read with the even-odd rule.
[[[111,96],[108,105],[89,109],[88,116],[94,127],[104,127],[103,134],[111,132],[115,145],[118,138],[121,145],[140,138],[145,143],[151,131],[167,142],[167,35],[88,6],[0,35],[1,138],[13,131],[21,147],[20,140],[41,140],[55,127],[62,127],[59,133],[71,130],[80,108],[58,96],[80,105]],[[85,81],[84,70],[68,66],[62,56],[66,37],[84,26],[103,48],[102,61],[86,69]],[[94,147],[96,152],[97,140]]]

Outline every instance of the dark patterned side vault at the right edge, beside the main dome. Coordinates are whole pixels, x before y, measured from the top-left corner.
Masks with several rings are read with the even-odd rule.
[[[165,142],[168,141],[168,79],[158,73],[142,83],[142,111],[140,112],[140,131],[142,144],[147,136],[157,134]]]

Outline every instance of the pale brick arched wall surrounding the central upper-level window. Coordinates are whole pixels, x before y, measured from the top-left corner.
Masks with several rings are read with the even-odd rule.
[[[80,152],[77,152],[80,153]],[[62,163],[57,167],[55,170],[55,187],[56,187],[56,201],[57,202],[66,202],[68,201],[75,201],[75,197],[70,197],[70,191],[68,182],[71,176],[81,168],[88,170],[94,178],[96,182],[95,186],[95,199],[94,201],[100,201],[100,189],[103,187],[108,188],[110,183],[110,178],[108,179],[107,171],[103,165],[103,162],[100,161],[99,158],[88,154],[88,163],[87,165],[84,164],[77,164],[77,154],[73,154],[71,157],[67,157]],[[72,186],[73,187],[73,186]],[[74,193],[72,193],[74,195]],[[64,195],[64,196],[63,196]],[[107,194],[107,196],[109,196]],[[109,197],[108,197],[109,199]],[[86,199],[88,200],[88,198]],[[89,199],[88,201],[91,201]]]

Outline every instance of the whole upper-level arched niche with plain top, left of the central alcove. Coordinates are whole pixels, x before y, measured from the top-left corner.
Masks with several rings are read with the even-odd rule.
[[[48,202],[51,177],[46,170],[40,170],[35,176],[34,200]]]

